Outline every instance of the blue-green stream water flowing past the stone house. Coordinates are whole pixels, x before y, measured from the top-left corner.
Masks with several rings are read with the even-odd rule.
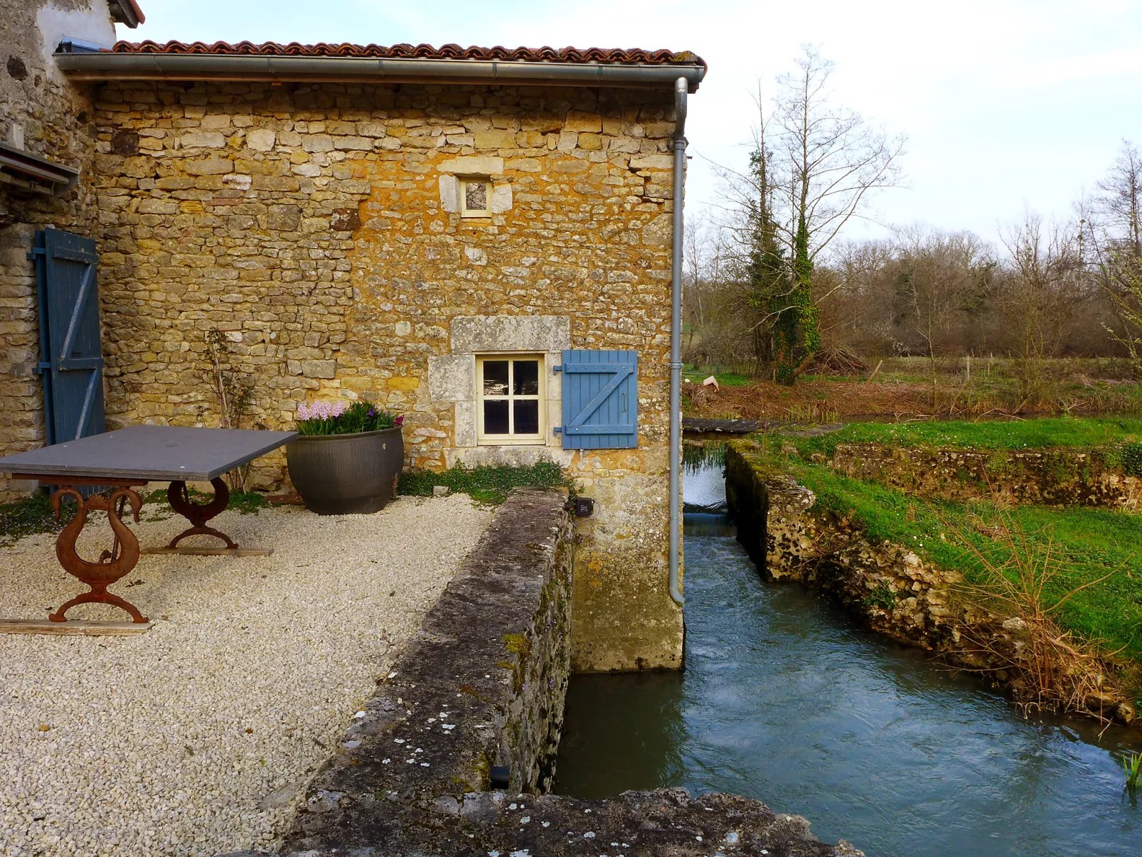
[[[721,467],[687,504],[724,500]],[[576,676],[556,791],[681,785],[797,812],[869,857],[1142,854],[1120,759],[1137,732],[1024,720],[1002,696],[766,584],[724,515],[687,514],[686,668]]]

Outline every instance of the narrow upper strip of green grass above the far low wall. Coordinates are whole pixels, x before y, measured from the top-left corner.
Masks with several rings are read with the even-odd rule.
[[[790,439],[807,457],[833,455],[838,443],[887,443],[894,447],[958,449],[1035,449],[1038,447],[1097,447],[1137,442],[1142,419],[1133,417],[1054,417],[1011,422],[851,423],[819,438]]]

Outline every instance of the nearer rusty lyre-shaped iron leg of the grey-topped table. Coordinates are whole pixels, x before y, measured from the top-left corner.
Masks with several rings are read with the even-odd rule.
[[[139,510],[143,508],[143,500],[131,488],[115,488],[111,496],[95,494],[83,499],[83,495],[74,488],[64,486],[51,495],[51,508],[59,518],[64,497],[75,498],[75,516],[64,527],[56,539],[56,556],[59,564],[70,575],[74,575],[80,580],[90,586],[89,592],[77,595],[65,603],[54,614],[48,616],[51,622],[65,622],[66,614],[75,604],[100,603],[114,604],[131,615],[136,623],[145,623],[147,618],[138,611],[135,604],[121,599],[119,595],[107,592],[107,586],[120,577],[129,574],[135,563],[139,560],[139,543],[130,528],[122,522],[123,510],[129,502],[135,522],[138,523]],[[107,513],[111,529],[115,534],[115,540],[110,551],[104,551],[98,562],[88,562],[75,552],[75,540],[79,538],[83,523],[87,521],[87,511],[102,510]]]

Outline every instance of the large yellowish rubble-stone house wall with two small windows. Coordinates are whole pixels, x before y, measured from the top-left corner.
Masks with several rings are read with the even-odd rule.
[[[206,336],[256,386],[247,425],[368,397],[412,467],[568,467],[577,670],[678,667],[667,590],[669,91],[116,82],[97,96],[108,425],[217,425]],[[458,177],[492,184],[488,217]],[[638,448],[481,447],[475,358],[634,349]],[[549,371],[549,367],[548,367]],[[558,376],[548,375],[549,425]],[[283,457],[255,474],[283,479]]]

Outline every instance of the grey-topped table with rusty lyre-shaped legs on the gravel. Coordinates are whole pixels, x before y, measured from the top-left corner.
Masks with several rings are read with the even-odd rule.
[[[56,539],[56,556],[64,570],[86,583],[90,591],[73,598],[48,619],[65,622],[64,614],[75,604],[98,602],[122,608],[136,624],[147,622],[134,604],[107,592],[107,586],[129,574],[138,562],[138,539],[122,518],[130,505],[131,515],[138,522],[143,500],[135,489],[147,482],[170,482],[167,498],[171,507],[191,522],[191,527],[175,536],[166,547],[152,548],[147,553],[268,554],[270,551],[265,550],[240,548],[230,536],[208,527],[207,521],[230,503],[230,490],[220,478],[223,473],[241,467],[296,436],[297,432],[135,425],[0,458],[0,473],[10,473],[13,479],[34,479],[41,486],[55,486],[51,507],[57,518],[65,497],[75,500],[75,516]],[[191,502],[186,483],[196,481],[214,486],[212,500],[206,504]],[[82,486],[106,487],[107,492],[85,497],[77,489]],[[91,510],[107,513],[114,534],[111,550],[104,551],[96,562],[85,560],[75,552],[75,540]],[[178,546],[182,539],[194,535],[215,536],[226,546],[212,550]]]

